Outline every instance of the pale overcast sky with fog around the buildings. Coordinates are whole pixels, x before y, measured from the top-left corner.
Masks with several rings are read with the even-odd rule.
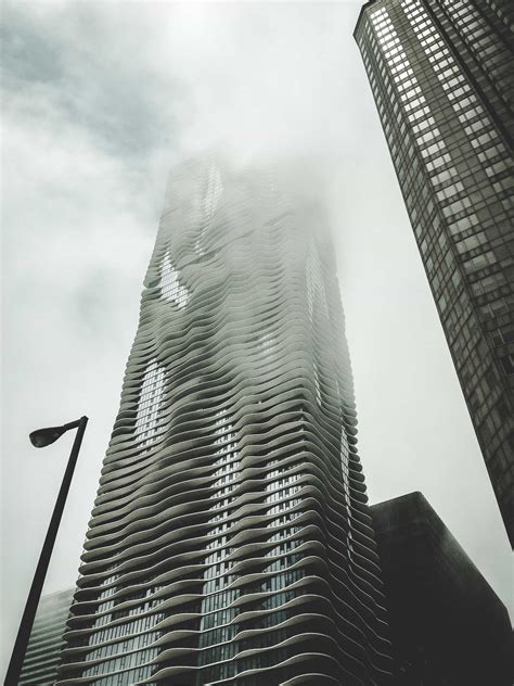
[[[211,145],[325,170],[370,501],[422,491],[509,604],[510,546],[352,39],[359,3],[3,4],[3,659],[72,435],[74,585],[167,173]]]

